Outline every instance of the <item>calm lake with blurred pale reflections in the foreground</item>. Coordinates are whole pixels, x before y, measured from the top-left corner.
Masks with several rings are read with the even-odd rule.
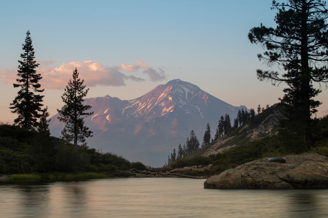
[[[328,189],[203,189],[204,179],[0,182],[4,218],[328,217]]]

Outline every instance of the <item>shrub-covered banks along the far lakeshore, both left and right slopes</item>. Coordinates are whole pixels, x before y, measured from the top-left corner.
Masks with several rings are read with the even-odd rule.
[[[312,146],[304,146],[302,141],[291,141],[279,133],[262,135],[254,140],[247,138],[257,123],[261,124],[277,110],[282,110],[279,104],[266,109],[257,115],[256,119],[245,123],[245,126],[237,128],[229,135],[213,141],[170,166],[161,168],[151,168],[141,162],[130,162],[122,156],[110,152],[104,153],[86,145],[74,148],[73,144],[60,138],[40,137],[39,132],[35,130],[0,123],[0,175],[2,175],[0,180],[208,178],[264,157],[284,157],[308,152],[328,156],[328,115],[315,119],[316,125],[313,127],[315,143]],[[275,128],[279,132],[279,127]],[[208,149],[217,152],[205,155]]]

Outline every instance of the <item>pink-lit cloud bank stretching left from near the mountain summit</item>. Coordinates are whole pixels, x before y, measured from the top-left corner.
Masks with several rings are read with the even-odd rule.
[[[126,80],[135,82],[162,81],[166,79],[165,71],[162,69],[154,70],[148,67],[142,60],[136,61],[135,64],[120,64],[114,67],[105,67],[94,61],[76,61],[70,63],[62,63],[60,67],[48,66],[55,61],[40,62],[40,66],[36,69],[40,73],[41,87],[47,89],[63,89],[72,79],[72,73],[77,68],[79,78],[84,80],[84,84],[88,87],[100,86],[125,86]],[[127,71],[123,73],[122,71]],[[141,72],[142,73],[141,73]],[[131,74],[132,73],[132,74]],[[16,83],[17,69],[0,70],[0,78],[3,83]]]

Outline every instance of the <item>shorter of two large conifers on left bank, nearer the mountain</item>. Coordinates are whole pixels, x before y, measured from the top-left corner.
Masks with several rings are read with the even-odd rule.
[[[84,126],[84,117],[88,117],[93,114],[86,111],[91,108],[90,105],[83,105],[83,98],[87,95],[89,88],[84,90],[86,86],[83,86],[84,80],[78,78],[79,73],[77,69],[73,71],[73,80],[70,80],[64,94],[61,96],[65,105],[61,110],[58,110],[60,121],[65,123],[65,127],[62,130],[63,138],[73,141],[75,148],[78,147],[78,142],[85,142],[85,138],[91,137],[92,131],[89,131],[89,127]]]

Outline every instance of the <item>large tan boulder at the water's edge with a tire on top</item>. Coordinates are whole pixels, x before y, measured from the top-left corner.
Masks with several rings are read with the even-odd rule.
[[[328,188],[328,157],[318,153],[286,156],[286,163],[262,158],[229,169],[204,182],[208,189]]]

